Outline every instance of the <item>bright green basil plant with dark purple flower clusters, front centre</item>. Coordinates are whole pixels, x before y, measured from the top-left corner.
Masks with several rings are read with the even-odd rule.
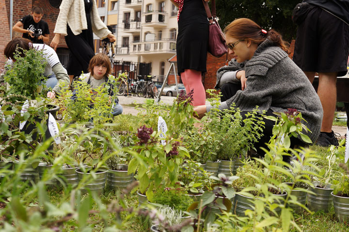
[[[152,128],[142,126],[138,129],[136,144],[125,149],[133,156],[128,164],[128,173],[138,170],[135,178],[140,182],[140,193],[145,194],[150,201],[153,191],[160,184],[174,186],[183,158],[189,157],[187,149],[180,146],[180,141],[165,138],[167,144],[161,145],[161,139]]]

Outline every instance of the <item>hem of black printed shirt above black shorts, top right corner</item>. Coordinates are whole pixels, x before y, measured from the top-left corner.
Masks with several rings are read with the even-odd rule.
[[[349,23],[349,0],[303,0],[317,5]]]

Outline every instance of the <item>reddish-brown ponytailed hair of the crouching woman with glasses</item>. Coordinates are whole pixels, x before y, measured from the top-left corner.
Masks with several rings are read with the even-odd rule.
[[[235,19],[224,28],[226,35],[237,39],[250,39],[258,45],[268,38],[289,54],[289,44],[282,39],[281,34],[272,29],[268,32],[264,31],[264,33],[263,31],[257,23],[248,18]]]

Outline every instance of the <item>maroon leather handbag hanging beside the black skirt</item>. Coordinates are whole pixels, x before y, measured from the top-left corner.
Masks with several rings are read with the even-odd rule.
[[[224,34],[222,33],[221,27],[217,22],[216,1],[211,0],[211,8],[213,14],[211,14],[207,2],[203,0],[203,3],[209,22],[208,52],[215,57],[221,57],[222,55],[228,53],[228,48],[225,43]]]

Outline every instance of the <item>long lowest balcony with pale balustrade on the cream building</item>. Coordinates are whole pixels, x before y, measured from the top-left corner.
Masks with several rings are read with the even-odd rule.
[[[174,39],[161,39],[155,41],[141,41],[130,43],[130,55],[146,55],[159,53],[176,53]]]

